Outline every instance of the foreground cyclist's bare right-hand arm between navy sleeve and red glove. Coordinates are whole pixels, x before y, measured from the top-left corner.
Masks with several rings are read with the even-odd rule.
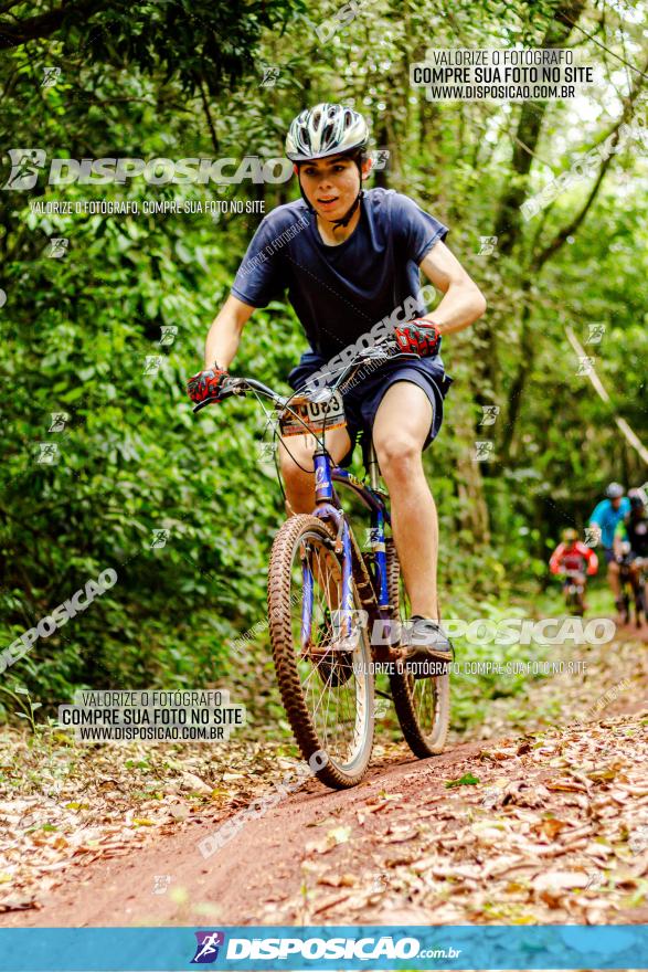
[[[421,270],[444,295],[425,319],[438,324],[442,335],[464,330],[486,310],[486,298],[475,281],[440,240],[423,260]]]

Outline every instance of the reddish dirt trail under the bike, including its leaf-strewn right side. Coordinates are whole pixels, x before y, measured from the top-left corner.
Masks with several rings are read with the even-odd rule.
[[[309,781],[208,859],[198,844],[223,818],[203,813],[126,857],[71,867],[38,910],[0,923],[646,921],[644,656],[615,715],[425,761],[403,746],[354,790]]]

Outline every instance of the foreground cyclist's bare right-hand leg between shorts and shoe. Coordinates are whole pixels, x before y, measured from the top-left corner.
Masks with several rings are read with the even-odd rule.
[[[432,420],[432,402],[423,389],[399,381],[379,405],[373,444],[390,493],[392,531],[412,613],[436,620],[438,522],[422,455]]]

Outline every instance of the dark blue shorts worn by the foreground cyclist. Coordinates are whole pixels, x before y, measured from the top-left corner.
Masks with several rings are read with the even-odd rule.
[[[288,384],[295,391],[299,391],[304,388],[308,378],[323,368],[326,363],[325,359],[319,355],[316,355],[314,351],[306,351],[301,356],[299,364],[288,374]],[[347,415],[347,432],[351,440],[351,448],[340,463],[341,466],[350,465],[359,432],[362,433],[363,450],[370,442],[375,413],[379,410],[383,395],[397,381],[411,381],[413,384],[417,384],[418,388],[423,389],[432,403],[432,424],[423,445],[424,450],[436,439],[443,423],[444,398],[453,379],[445,373],[438,355],[435,358],[411,360],[405,364],[402,363],[402,360],[386,361],[380,368],[372,369],[371,371],[367,370],[365,377],[358,372],[360,381],[357,383],[346,382],[340,388]]]

